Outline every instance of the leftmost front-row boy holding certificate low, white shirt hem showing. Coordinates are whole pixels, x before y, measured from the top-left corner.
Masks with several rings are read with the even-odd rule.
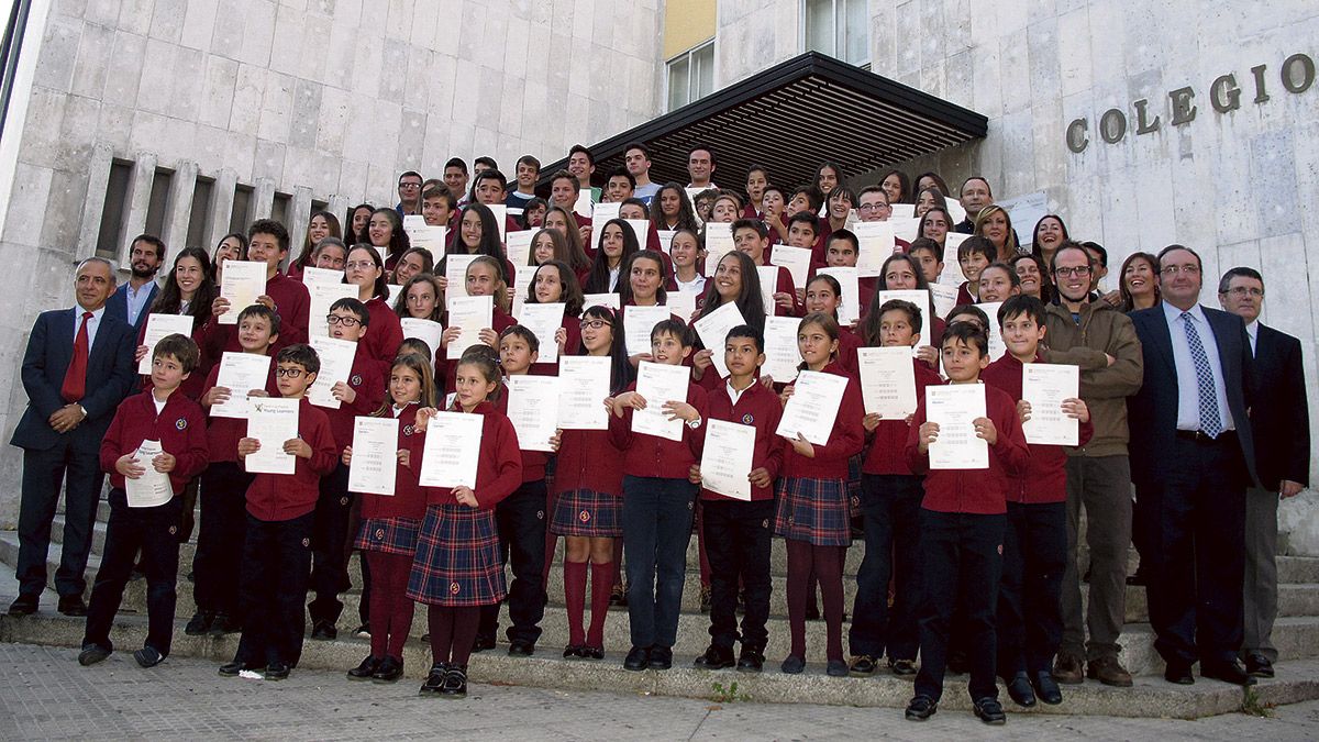
[[[154,667],[169,656],[174,632],[174,584],[178,581],[178,518],[187,481],[206,467],[206,420],[202,409],[179,384],[197,367],[200,351],[185,335],[168,335],[152,353],[152,388],[124,400],[100,444],[100,467],[109,474],[109,523],[106,527],[106,553],[87,607],[80,664],[99,663],[109,656],[109,624],[119,611],[124,585],[133,569],[137,551],[142,552],[146,573],[146,643],[133,652],[142,667]],[[138,448],[149,441],[160,453],[141,461]],[[156,448],[156,446],[152,446]],[[165,487],[129,496],[125,479],[148,474],[168,474]],[[138,499],[145,498],[145,499]]]

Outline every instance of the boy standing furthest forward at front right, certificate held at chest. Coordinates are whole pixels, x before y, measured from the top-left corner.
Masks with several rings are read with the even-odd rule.
[[[950,384],[980,384],[989,364],[989,338],[972,322],[950,322],[943,333],[943,370]],[[917,405],[905,455],[915,474],[925,474],[921,500],[921,671],[915,696],[906,708],[909,721],[925,721],[943,694],[948,623],[954,609],[966,613],[968,691],[976,717],[985,724],[1006,721],[995,684],[995,610],[1002,574],[1002,540],[1009,478],[1026,466],[1026,438],[1017,408],[1006,392],[980,386],[983,417],[972,421],[975,437],[988,448],[988,469],[931,469],[930,444],[939,424],[926,421],[926,400]],[[934,389],[927,389],[929,393]],[[956,589],[952,589],[952,586]]]

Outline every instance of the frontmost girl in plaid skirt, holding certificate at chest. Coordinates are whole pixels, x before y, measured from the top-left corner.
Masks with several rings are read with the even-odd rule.
[[[476,487],[427,489],[408,598],[426,603],[430,624],[433,664],[419,693],[463,698],[481,606],[499,603],[506,594],[495,506],[522,482],[522,457],[513,424],[491,400],[500,387],[495,351],[476,347],[455,366],[458,383],[450,412],[483,419]],[[422,430],[433,413],[433,408],[418,411]]]

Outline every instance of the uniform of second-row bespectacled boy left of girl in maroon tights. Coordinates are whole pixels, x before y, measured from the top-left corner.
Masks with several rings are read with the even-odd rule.
[[[375,330],[375,323],[371,330]],[[348,491],[348,466],[339,455],[352,445],[353,419],[371,416],[380,409],[385,399],[385,382],[380,375],[380,364],[364,341],[368,331],[357,342],[352,358],[352,371],[348,374],[348,388],[356,392],[351,403],[342,401],[338,408],[319,408],[330,421],[334,437],[335,465],[321,478],[317,496],[315,516],[311,520],[311,577],[309,586],[315,599],[307,605],[313,624],[334,626],[343,611],[339,593],[348,589],[348,531],[352,515],[352,492]]]

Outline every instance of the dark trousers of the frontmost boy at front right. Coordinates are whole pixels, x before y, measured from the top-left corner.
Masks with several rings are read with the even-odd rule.
[[[968,691],[972,700],[997,698],[995,603],[1002,573],[1002,515],[921,510],[921,672],[915,693],[943,694],[948,623],[966,613]]]

